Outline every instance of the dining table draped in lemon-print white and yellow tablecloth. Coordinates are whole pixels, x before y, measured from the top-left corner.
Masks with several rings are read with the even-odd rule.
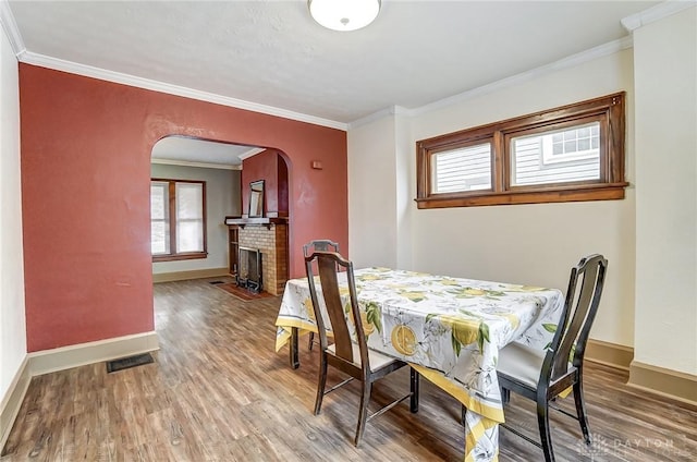
[[[344,305],[350,303],[346,275],[338,273]],[[381,267],[354,275],[368,346],[405,361],[466,406],[465,462],[498,461],[504,422],[498,353],[511,342],[549,348],[564,306],[562,292]],[[318,301],[329,330],[319,294]],[[291,366],[297,367],[298,338],[317,332],[307,278],[286,281],[276,326],[277,352],[290,343]]]

